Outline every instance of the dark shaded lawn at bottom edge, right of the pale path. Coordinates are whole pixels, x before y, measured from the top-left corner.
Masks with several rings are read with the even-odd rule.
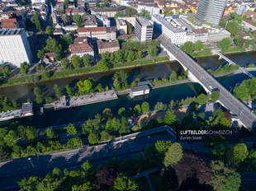
[[[167,179],[161,174],[160,171],[150,174],[149,179],[151,180],[151,184],[153,185],[155,191],[166,191],[171,189]]]

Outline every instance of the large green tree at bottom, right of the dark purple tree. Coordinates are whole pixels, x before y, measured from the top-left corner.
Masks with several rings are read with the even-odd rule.
[[[215,191],[239,191],[241,179],[239,173],[225,167],[222,161],[211,161],[211,180],[207,184]]]

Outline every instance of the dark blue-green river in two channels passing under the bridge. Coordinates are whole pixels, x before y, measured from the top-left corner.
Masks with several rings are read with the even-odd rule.
[[[246,66],[249,63],[256,62],[256,54],[254,53],[243,53],[243,54],[230,54],[228,57],[238,63],[241,66]],[[201,64],[203,68],[215,69],[218,66],[225,64],[224,60],[219,60],[217,57],[209,58],[198,58],[197,62]],[[140,80],[149,80],[154,78],[168,77],[172,71],[178,73],[183,72],[181,66],[174,63],[161,63],[148,65],[137,68],[125,69],[128,74],[128,82],[132,82],[135,78]],[[63,79],[55,79],[48,82],[39,82],[36,84],[23,84],[17,86],[3,87],[0,88],[0,94],[7,95],[10,99],[26,100],[28,98],[33,99],[33,87],[41,86],[45,92],[45,95],[51,95],[53,93],[53,86],[55,83],[59,86],[64,87],[66,84],[75,84],[78,80],[83,80],[88,77],[92,77],[94,81],[101,82],[105,86],[111,86],[111,78],[114,72],[101,72],[90,75],[83,75],[79,77],[67,77]],[[256,72],[253,72],[256,75]],[[219,77],[217,80],[225,86],[229,91],[232,91],[235,85],[242,82],[248,77],[244,74],[237,74],[230,77]],[[162,101],[168,104],[171,100],[182,100],[187,96],[196,96],[200,93],[205,92],[203,88],[197,83],[187,83],[178,86],[170,86],[157,90],[153,90],[149,95],[140,96],[133,100],[130,100],[126,95],[122,95],[118,100],[111,100],[103,103],[84,105],[72,109],[63,109],[55,111],[48,109],[45,115],[34,115],[32,117],[18,119],[21,124],[33,125],[38,128],[43,128],[52,125],[59,125],[63,123],[71,123],[75,121],[85,120],[92,118],[95,114],[102,111],[105,108],[111,108],[113,112],[116,112],[120,107],[134,107],[136,104],[141,104],[143,101],[148,101],[152,109],[157,101]],[[12,121],[2,122],[0,126],[7,125]]]

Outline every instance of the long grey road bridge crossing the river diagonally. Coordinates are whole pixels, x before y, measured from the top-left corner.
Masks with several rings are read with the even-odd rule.
[[[211,91],[220,91],[219,102],[224,105],[231,114],[236,114],[239,117],[239,123],[242,123],[246,128],[256,128],[256,115],[251,112],[247,105],[235,98],[234,95],[227,91],[224,86],[216,81],[204,68],[195,62],[191,57],[185,54],[175,44],[171,43],[165,35],[160,35],[159,44],[163,47],[170,58],[176,58],[184,69],[189,71],[188,77],[194,82],[198,82],[204,89]]]

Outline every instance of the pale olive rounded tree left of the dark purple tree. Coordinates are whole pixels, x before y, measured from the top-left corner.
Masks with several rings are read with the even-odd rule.
[[[164,156],[164,165],[168,167],[169,165],[177,164],[183,158],[183,147],[180,143],[173,143],[166,152]]]

